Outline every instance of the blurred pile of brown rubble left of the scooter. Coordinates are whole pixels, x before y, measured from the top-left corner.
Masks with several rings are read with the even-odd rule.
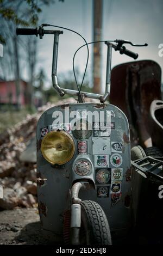
[[[60,100],[56,105],[76,102],[73,98]],[[3,198],[0,209],[13,209],[16,206],[35,207],[36,163],[20,161],[20,154],[28,141],[35,137],[37,120],[46,109],[55,106],[48,103],[34,115],[27,115],[21,123],[0,135],[0,185]]]

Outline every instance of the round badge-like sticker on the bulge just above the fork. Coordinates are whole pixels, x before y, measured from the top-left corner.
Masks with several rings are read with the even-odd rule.
[[[78,160],[74,164],[74,171],[81,176],[87,175],[91,172],[91,164],[87,160]]]

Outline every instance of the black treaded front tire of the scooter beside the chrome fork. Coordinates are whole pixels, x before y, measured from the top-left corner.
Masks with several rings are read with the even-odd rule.
[[[86,245],[111,245],[108,220],[101,206],[91,200],[82,201],[80,204]]]

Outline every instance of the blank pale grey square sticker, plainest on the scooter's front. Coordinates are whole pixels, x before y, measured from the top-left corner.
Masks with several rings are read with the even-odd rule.
[[[92,138],[92,154],[93,155],[109,155],[111,154],[110,149],[110,138]]]

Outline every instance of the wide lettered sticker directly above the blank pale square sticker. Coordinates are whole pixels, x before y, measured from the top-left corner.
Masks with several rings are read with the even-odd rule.
[[[111,129],[115,129],[115,123],[93,122],[93,136],[95,137],[109,137]]]

